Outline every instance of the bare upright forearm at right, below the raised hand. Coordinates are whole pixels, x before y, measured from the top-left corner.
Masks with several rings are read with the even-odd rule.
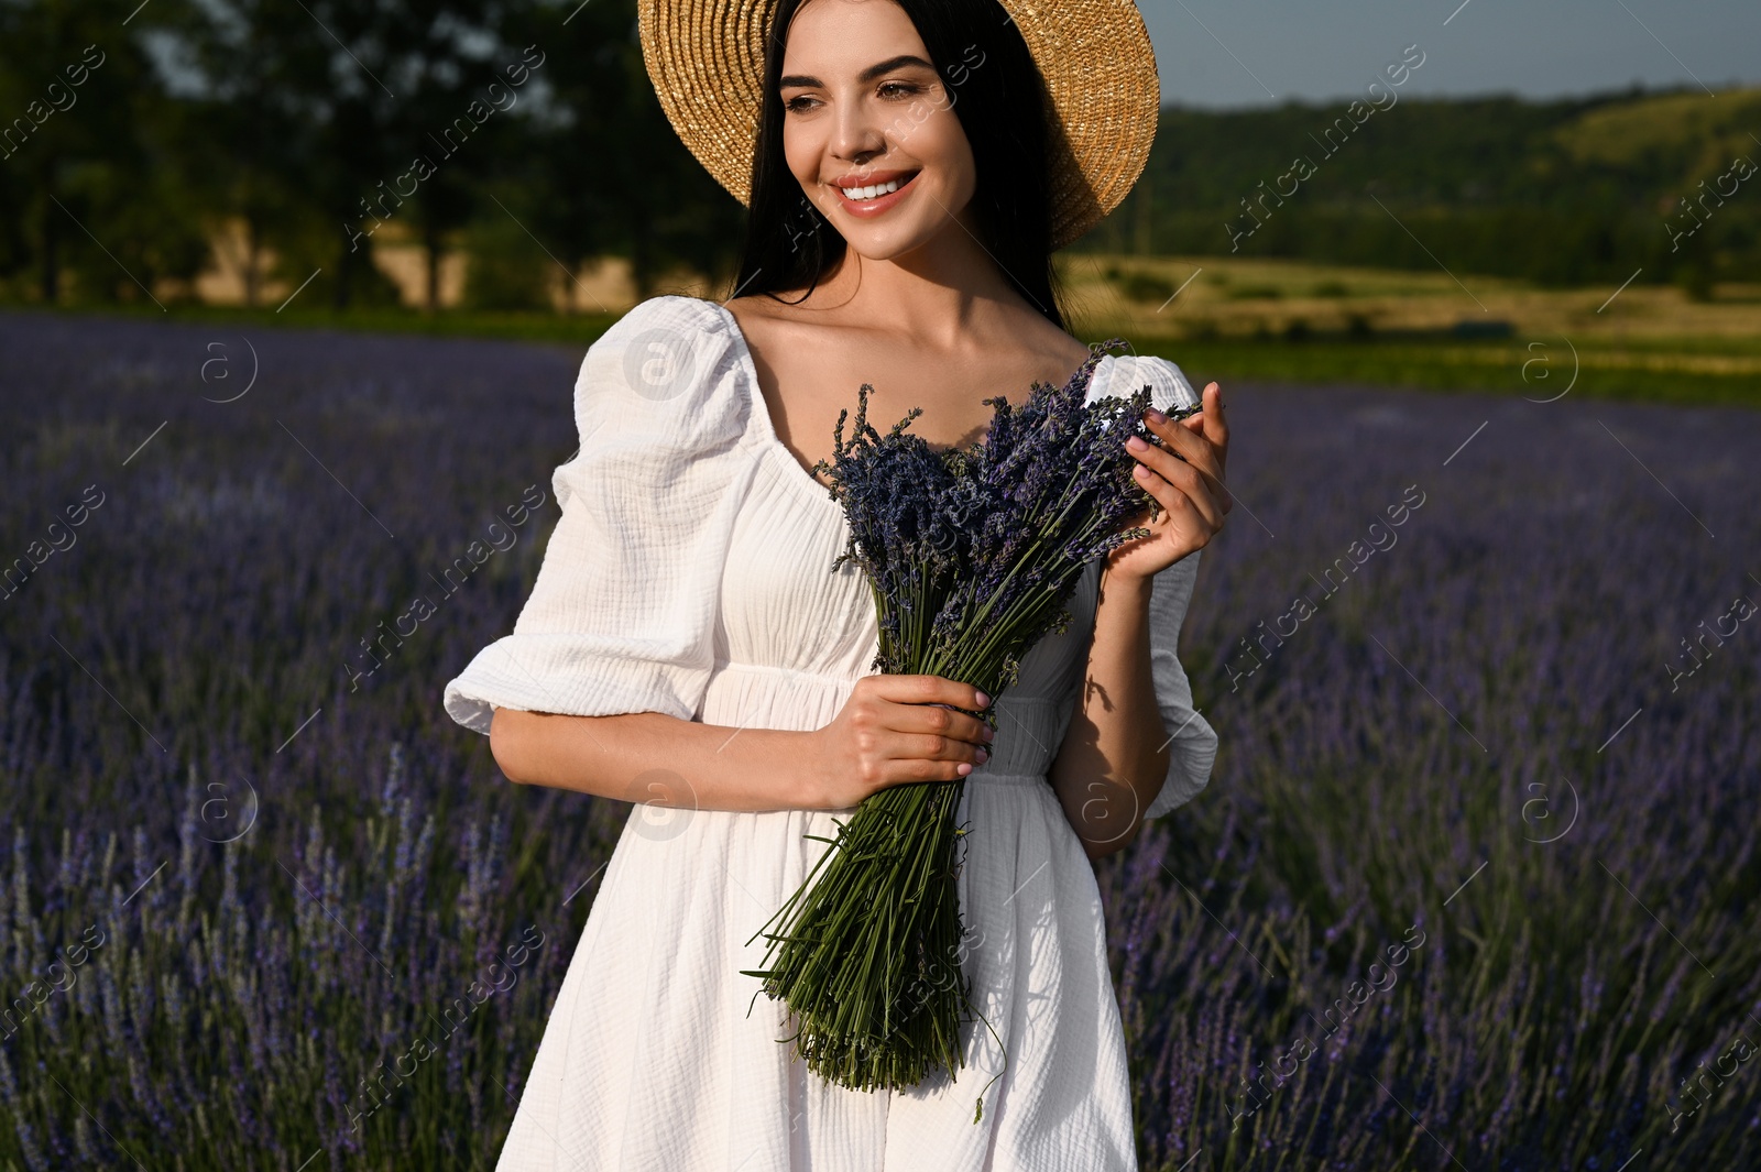
[[[1150,579],[1102,574],[1083,690],[1048,771],[1090,859],[1138,838],[1168,776],[1168,741],[1150,676]]]

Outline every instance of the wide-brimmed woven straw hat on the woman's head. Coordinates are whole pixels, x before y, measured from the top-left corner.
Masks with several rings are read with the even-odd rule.
[[[1051,246],[1118,208],[1155,139],[1155,51],[1132,0],[998,0],[1051,95]],[[637,0],[667,120],[717,183],[752,202],[764,32],[777,0]]]

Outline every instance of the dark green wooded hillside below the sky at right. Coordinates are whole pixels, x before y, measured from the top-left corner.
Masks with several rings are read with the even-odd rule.
[[[1678,283],[1761,271],[1761,178],[1726,178],[1703,227],[1682,201],[1761,160],[1761,90],[1555,102],[1169,107],[1095,252],[1301,257],[1550,285]],[[1280,194],[1282,192],[1282,194]],[[1671,234],[1671,225],[1676,236]]]

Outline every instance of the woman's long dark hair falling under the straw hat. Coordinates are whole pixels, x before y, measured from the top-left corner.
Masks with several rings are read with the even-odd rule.
[[[764,55],[764,106],[752,158],[752,204],[736,294],[814,287],[844,257],[844,236],[819,213],[782,150],[782,53],[807,0],[780,0]],[[1051,269],[1051,169],[1046,83],[1021,30],[997,0],[893,0],[923,37],[972,144],[977,238],[1016,292],[1064,329]],[[1006,169],[1016,181],[1006,181]],[[803,294],[807,296],[807,294]]]

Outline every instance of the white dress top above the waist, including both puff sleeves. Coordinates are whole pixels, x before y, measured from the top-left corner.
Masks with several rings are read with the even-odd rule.
[[[1153,357],[1106,355],[1090,401],[1143,384],[1159,408],[1196,396]],[[821,729],[875,670],[873,597],[844,553],[844,509],[780,442],[734,315],[657,297],[588,350],[576,385],[581,449],[556,470],[564,516],[514,634],[447,686],[456,720],[495,706]],[[1175,656],[1197,558],[1157,575],[1152,667],[1171,734],[1169,780],[1148,815],[1205,785],[1215,734]],[[1041,780],[1074,711],[1094,632],[1099,563],[1071,623],[1021,658],[997,700],[991,757],[972,778]],[[1159,809],[1160,808],[1160,809]]]

